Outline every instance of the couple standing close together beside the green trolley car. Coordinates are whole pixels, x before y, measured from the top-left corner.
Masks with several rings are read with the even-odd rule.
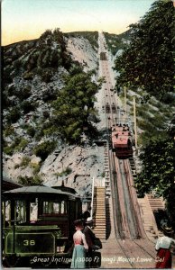
[[[98,247],[95,244],[96,235],[92,231],[93,220],[75,220],[76,232],[73,235],[74,249],[70,268],[90,268],[93,263],[93,250]]]

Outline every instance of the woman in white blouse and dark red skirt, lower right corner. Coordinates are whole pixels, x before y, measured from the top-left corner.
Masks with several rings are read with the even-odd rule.
[[[164,236],[158,238],[155,249],[157,250],[157,256],[155,259],[155,268],[171,268],[172,257],[170,247],[175,246],[175,240],[171,238],[173,230],[168,227],[162,227]]]

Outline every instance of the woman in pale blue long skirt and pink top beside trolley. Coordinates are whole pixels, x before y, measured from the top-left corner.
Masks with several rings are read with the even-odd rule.
[[[82,229],[84,229],[82,220],[74,221],[76,232],[73,235],[74,250],[70,268],[86,268],[86,252],[88,244]]]

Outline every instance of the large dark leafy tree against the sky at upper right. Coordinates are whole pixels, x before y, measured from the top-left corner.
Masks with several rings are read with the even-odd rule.
[[[158,0],[139,23],[130,25],[130,46],[115,61],[118,86],[141,87],[160,99],[173,91],[174,19],[171,1]]]

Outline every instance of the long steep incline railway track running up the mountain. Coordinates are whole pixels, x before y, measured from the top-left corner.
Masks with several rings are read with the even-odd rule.
[[[111,128],[116,124],[127,124],[127,119],[125,112],[121,110],[117,98],[115,98],[103,34],[101,34],[99,40],[101,40],[102,76],[105,76],[106,79],[103,108],[106,113],[106,130],[109,141],[105,144],[105,157],[108,158],[107,175],[110,176],[111,187],[110,211],[112,211],[112,219],[114,220],[111,220],[111,223],[114,222],[114,234],[111,237],[109,236],[109,245],[105,245],[102,252],[102,255],[113,257],[113,263],[110,263],[110,265],[103,264],[102,266],[110,268],[152,268],[154,267],[155,250],[143,229],[129,158],[119,159],[110,148]],[[124,112],[123,115],[122,112]]]

